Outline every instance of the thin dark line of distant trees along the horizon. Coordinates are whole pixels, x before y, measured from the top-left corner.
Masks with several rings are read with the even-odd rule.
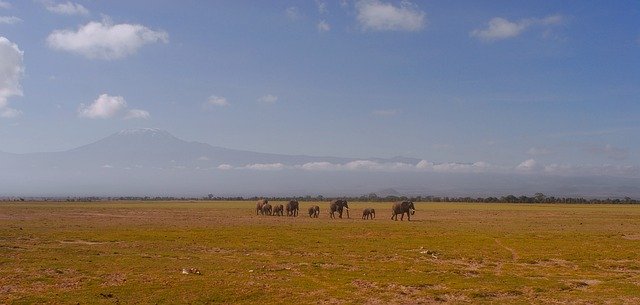
[[[639,204],[640,200],[631,197],[624,198],[582,198],[582,197],[554,197],[543,193],[533,196],[506,195],[501,197],[449,197],[449,196],[378,196],[375,193],[351,197],[294,196],[294,197],[243,197],[243,196],[215,196],[209,194],[204,197],[173,197],[173,196],[118,196],[118,197],[4,197],[0,201],[53,201],[53,202],[100,202],[100,201],[241,201],[268,199],[270,201],[331,201],[346,199],[354,202],[394,202],[410,200],[413,202],[470,202],[470,203],[582,203],[582,204]]]

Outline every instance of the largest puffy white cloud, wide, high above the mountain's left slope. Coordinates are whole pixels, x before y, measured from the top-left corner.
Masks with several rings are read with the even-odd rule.
[[[140,24],[112,24],[106,19],[89,22],[77,31],[55,30],[47,37],[52,49],[107,60],[124,58],[145,44],[157,42],[169,42],[169,34]]]

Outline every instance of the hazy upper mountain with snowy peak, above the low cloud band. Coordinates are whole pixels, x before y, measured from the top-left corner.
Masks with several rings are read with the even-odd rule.
[[[0,169],[77,169],[111,168],[207,168],[225,164],[296,165],[309,162],[346,163],[349,158],[282,155],[211,146],[188,142],[155,128],[128,129],[97,142],[68,151],[53,153],[0,155]],[[382,160],[382,159],[379,159]],[[413,160],[414,163],[419,160]]]

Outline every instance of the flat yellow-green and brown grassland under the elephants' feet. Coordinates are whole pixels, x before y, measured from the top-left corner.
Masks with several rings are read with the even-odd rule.
[[[0,203],[0,303],[640,303],[640,206],[327,205]]]

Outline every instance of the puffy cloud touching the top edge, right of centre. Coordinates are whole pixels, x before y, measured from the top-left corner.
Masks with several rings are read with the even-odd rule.
[[[427,23],[425,13],[409,1],[400,6],[378,0],[362,0],[356,3],[358,22],[365,30],[419,31]]]

